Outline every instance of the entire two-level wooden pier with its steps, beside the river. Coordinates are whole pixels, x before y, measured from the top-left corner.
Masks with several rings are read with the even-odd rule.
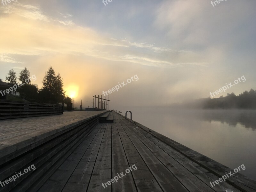
[[[2,120],[0,130],[0,181],[36,167],[0,191],[256,191],[239,172],[212,187],[234,171],[113,111]]]

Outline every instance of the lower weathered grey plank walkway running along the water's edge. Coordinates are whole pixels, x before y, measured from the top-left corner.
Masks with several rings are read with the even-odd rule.
[[[240,191],[226,182],[212,188],[219,177],[122,116],[114,119],[99,124],[39,192]],[[102,186],[133,164],[136,171]]]

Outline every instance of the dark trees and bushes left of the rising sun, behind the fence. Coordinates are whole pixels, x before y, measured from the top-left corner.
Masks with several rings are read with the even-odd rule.
[[[11,87],[15,84],[19,84],[17,83],[16,72],[13,69],[11,69],[5,77]],[[71,98],[65,96],[63,79],[61,78],[60,73],[56,75],[52,66],[44,75],[42,81],[43,87],[41,89],[38,89],[36,85],[31,83],[30,72],[26,67],[20,71],[18,79],[20,80],[20,83],[23,84],[17,89],[17,92],[20,92],[20,98],[52,104],[71,103]]]

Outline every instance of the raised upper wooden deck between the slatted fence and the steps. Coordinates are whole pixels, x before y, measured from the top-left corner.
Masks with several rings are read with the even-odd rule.
[[[28,117],[0,121],[0,158],[36,141],[79,124],[84,119],[93,118],[102,111],[65,112],[63,115]],[[38,143],[39,145],[40,143]],[[18,154],[17,154],[18,155]],[[1,160],[0,160],[1,164]]]

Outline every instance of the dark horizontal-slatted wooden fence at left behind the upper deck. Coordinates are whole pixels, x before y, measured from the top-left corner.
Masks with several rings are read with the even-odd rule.
[[[63,114],[62,105],[0,100],[0,119]]]

